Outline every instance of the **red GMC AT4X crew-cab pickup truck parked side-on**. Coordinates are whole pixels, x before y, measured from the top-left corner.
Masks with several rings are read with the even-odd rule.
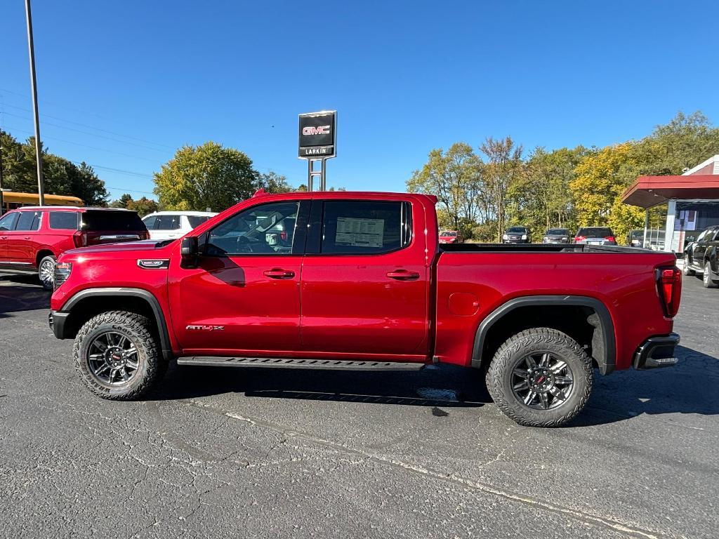
[[[50,326],[96,395],[180,365],[483,369],[522,425],[556,426],[594,370],[676,363],[674,254],[562,244],[439,246],[436,198],[258,192],[182,239],[73,249]]]

